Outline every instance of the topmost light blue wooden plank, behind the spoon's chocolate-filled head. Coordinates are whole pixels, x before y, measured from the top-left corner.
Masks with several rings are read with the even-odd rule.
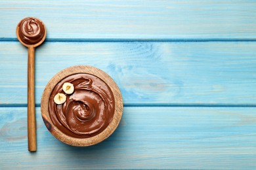
[[[255,39],[256,2],[0,1],[0,37],[22,18],[47,25],[47,39]]]

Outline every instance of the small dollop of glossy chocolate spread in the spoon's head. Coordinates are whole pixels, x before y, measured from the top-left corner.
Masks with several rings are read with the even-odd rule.
[[[45,35],[43,22],[37,18],[24,18],[18,26],[18,35],[21,41],[26,44],[36,44]]]

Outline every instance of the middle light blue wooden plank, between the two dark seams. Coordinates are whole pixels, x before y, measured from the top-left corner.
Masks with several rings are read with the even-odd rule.
[[[0,103],[26,105],[27,48],[0,43]],[[256,42],[46,42],[37,48],[35,97],[73,65],[102,69],[125,105],[255,105]]]

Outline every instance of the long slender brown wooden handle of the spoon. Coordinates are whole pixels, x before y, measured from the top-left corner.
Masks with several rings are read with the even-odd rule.
[[[35,48],[28,47],[28,150],[37,149],[35,130]]]

